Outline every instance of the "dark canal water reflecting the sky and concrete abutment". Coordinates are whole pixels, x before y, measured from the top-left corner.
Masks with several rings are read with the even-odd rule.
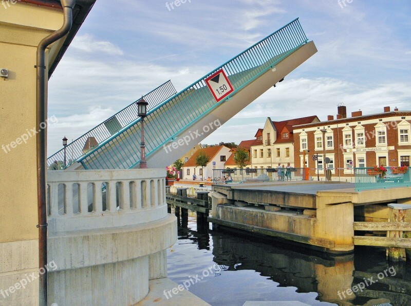
[[[169,278],[213,306],[411,305],[411,265],[386,262],[382,248],[333,257],[236,230],[213,231],[211,223],[197,228],[190,211],[184,223],[179,220],[178,241],[167,250]]]

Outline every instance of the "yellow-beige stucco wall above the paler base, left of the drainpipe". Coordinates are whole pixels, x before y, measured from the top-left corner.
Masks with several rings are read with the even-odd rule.
[[[36,47],[62,24],[57,9],[20,2],[0,7],[0,68],[9,70],[0,80],[0,243],[38,237],[35,137],[12,142],[35,127]]]

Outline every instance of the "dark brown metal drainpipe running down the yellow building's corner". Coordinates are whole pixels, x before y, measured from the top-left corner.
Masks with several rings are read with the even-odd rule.
[[[72,25],[72,10],[75,0],[61,0],[64,14],[63,26],[45,37],[37,47],[36,65],[36,136],[37,149],[37,204],[39,224],[39,269],[47,265],[47,209],[46,209],[46,130],[41,124],[46,122],[46,48],[66,35]],[[39,276],[39,304],[47,306],[47,269]]]

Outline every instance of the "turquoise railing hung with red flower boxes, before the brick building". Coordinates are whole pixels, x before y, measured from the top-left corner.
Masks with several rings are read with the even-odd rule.
[[[391,187],[411,186],[411,171],[397,167],[384,167],[386,171],[373,167],[354,168],[354,189],[356,191]]]

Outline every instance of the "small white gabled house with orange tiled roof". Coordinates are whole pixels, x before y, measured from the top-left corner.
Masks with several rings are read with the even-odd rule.
[[[197,166],[196,158],[200,152],[206,154],[210,161],[206,167],[201,168]],[[197,180],[207,180],[208,177],[213,177],[213,169],[222,169],[224,164],[230,158],[232,152],[230,148],[218,145],[196,150],[191,158],[183,165],[183,178],[184,180],[192,180],[193,175],[196,175]]]

